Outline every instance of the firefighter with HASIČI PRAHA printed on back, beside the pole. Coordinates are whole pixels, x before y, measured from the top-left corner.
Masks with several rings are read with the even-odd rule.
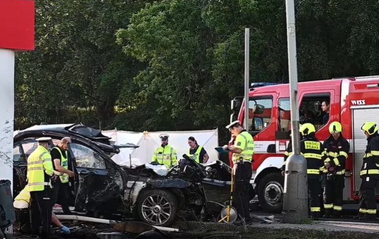
[[[308,176],[308,195],[310,215],[312,219],[320,216],[321,173],[323,167],[321,160],[322,144],[316,139],[316,129],[311,123],[304,123],[300,127],[303,140],[300,141],[300,152],[306,159],[306,173]]]

